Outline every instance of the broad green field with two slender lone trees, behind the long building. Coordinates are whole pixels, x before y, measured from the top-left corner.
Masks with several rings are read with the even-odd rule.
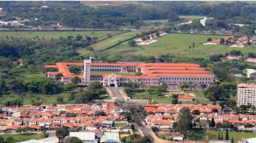
[[[142,45],[130,47],[128,42],[122,43],[106,52],[113,54],[136,54],[136,55],[155,55],[159,56],[161,54],[173,54],[179,57],[204,57],[208,58],[211,51],[216,51],[223,46],[219,45],[203,45],[207,38],[217,39],[223,36],[220,35],[204,35],[204,34],[168,34],[163,37],[156,38],[157,43],[151,45]],[[195,42],[196,47],[194,48],[194,53],[189,51],[188,47]],[[211,50],[211,51],[208,51]]]

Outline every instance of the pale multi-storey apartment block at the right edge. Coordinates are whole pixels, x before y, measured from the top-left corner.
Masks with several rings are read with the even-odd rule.
[[[256,85],[238,84],[236,104],[256,106]]]

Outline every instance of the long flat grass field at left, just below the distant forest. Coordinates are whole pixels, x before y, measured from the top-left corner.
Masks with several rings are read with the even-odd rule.
[[[98,39],[107,37],[107,34],[118,34],[121,31],[56,31],[56,32],[29,32],[29,31],[2,31],[1,32],[1,37],[26,37],[26,38],[33,38],[38,36],[40,39],[42,37],[45,37],[46,40],[50,40],[51,38],[58,39],[59,37],[68,37],[68,36],[73,36],[76,37],[77,34],[80,34],[85,38],[86,36],[90,37],[98,37]]]

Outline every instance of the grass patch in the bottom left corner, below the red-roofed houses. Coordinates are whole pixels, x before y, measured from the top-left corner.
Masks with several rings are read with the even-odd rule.
[[[5,140],[7,137],[12,137],[14,140],[11,143],[18,143],[25,140],[39,140],[44,138],[43,134],[1,134],[1,137],[3,137]]]

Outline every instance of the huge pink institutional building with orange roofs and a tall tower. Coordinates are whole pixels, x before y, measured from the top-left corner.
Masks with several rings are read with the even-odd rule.
[[[83,75],[74,75],[69,72],[68,66],[78,66],[83,71]],[[48,77],[55,79],[56,74],[63,74],[61,81],[71,83],[75,76],[81,79],[80,85],[88,85],[91,81],[98,81],[103,86],[122,86],[128,81],[138,82],[146,85],[177,85],[179,83],[194,84],[213,83],[214,76],[209,74],[198,64],[193,63],[92,63],[92,59],[84,60],[84,63],[57,63],[48,65],[46,68],[57,68],[58,72],[47,72]],[[103,74],[91,75],[95,72],[142,72],[143,75],[118,75]]]

